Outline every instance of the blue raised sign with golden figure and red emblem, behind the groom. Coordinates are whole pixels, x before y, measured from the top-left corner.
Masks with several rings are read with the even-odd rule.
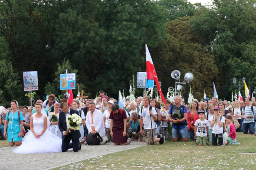
[[[76,73],[61,74],[59,79],[59,89],[76,89]]]

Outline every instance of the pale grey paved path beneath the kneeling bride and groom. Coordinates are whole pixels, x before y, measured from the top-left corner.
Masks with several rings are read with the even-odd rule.
[[[126,146],[114,146],[106,143],[98,146],[82,144],[79,152],[60,152],[48,154],[13,154],[14,147],[0,148],[0,170],[48,170],[58,166],[75,163],[92,157],[145,146],[143,142],[132,141]]]

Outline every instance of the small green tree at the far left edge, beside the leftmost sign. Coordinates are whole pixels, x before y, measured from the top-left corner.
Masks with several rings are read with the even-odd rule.
[[[0,77],[0,105],[10,107],[12,100],[17,100],[20,103],[22,86],[11,62],[0,60]]]

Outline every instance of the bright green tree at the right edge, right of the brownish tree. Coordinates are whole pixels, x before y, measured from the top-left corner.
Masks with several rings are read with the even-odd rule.
[[[200,11],[191,21],[195,34],[204,39],[204,46],[215,56],[219,92],[226,99],[235,90],[233,77],[250,78],[250,83],[256,83],[252,76],[256,74],[256,56],[250,50],[255,49],[255,3],[255,0],[214,0],[215,7]]]

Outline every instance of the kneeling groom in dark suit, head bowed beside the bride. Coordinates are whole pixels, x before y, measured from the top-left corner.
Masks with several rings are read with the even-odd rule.
[[[73,148],[74,152],[81,150],[81,144],[79,138],[81,133],[79,130],[69,129],[69,134],[67,135],[67,117],[76,113],[79,115],[79,112],[73,109],[70,109],[66,102],[60,104],[61,112],[59,113],[59,130],[62,133],[62,152],[66,152],[68,149]],[[72,143],[70,141],[72,140]]]

